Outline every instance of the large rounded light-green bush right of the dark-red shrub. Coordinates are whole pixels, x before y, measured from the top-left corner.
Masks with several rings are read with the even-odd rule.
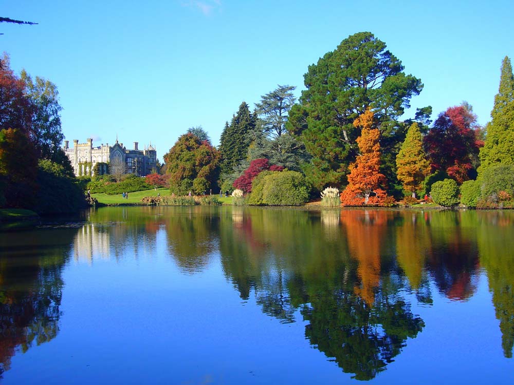
[[[269,206],[300,206],[309,199],[305,177],[298,171],[275,171],[264,177],[263,203]]]

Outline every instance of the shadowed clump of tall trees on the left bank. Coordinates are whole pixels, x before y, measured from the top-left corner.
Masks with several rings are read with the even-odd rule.
[[[59,93],[52,82],[0,59],[0,207],[39,214],[73,213],[82,189],[61,148]]]

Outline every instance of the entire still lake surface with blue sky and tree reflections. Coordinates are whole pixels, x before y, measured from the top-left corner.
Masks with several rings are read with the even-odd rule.
[[[0,233],[5,384],[514,382],[514,212],[127,207]]]

